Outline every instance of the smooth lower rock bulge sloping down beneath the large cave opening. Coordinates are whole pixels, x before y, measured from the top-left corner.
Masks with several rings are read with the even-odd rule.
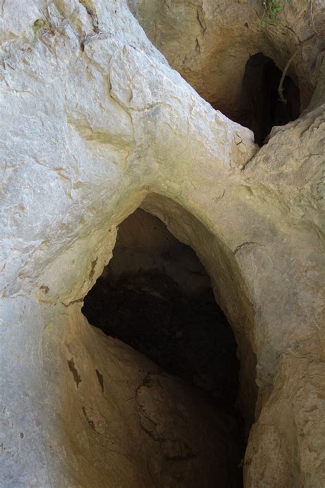
[[[18,299],[3,312],[14,360],[1,357],[1,485],[237,486],[234,422],[194,388],[88,325],[79,305]]]

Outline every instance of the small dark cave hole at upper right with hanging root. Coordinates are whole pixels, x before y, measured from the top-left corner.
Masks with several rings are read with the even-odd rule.
[[[263,146],[272,127],[284,126],[300,115],[300,92],[289,76],[285,76],[282,86],[287,103],[280,101],[278,87],[281,77],[282,71],[261,52],[250,56],[245,65],[242,93],[246,109],[244,118],[239,122],[254,132],[259,146]]]

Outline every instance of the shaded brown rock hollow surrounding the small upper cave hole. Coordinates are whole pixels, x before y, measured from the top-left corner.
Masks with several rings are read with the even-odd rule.
[[[322,0],[295,0],[284,8],[280,2],[278,25],[267,21],[266,2],[260,0],[134,0],[130,5],[171,66],[228,117],[245,119],[243,74],[258,52],[283,70],[297,51],[288,74],[300,88],[302,108],[309,104],[324,49]]]

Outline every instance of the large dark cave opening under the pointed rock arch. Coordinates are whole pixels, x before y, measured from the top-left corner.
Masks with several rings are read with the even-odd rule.
[[[119,225],[113,257],[85,297],[82,312],[108,336],[197,388],[216,415],[232,417],[239,456],[230,461],[235,475],[228,486],[242,486],[237,343],[192,248],[161,220],[137,209]]]

